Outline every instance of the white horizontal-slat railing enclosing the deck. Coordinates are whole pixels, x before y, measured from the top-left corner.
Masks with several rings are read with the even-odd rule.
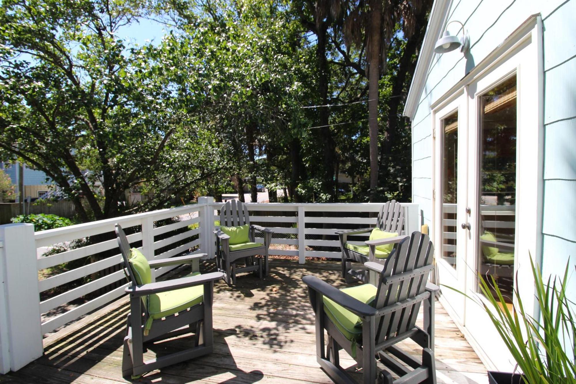
[[[338,229],[373,226],[376,224],[376,217],[369,217],[369,215],[371,212],[378,212],[382,206],[382,204],[377,203],[247,203],[246,205],[251,212],[251,223],[266,225],[275,231],[270,254],[297,256],[300,263],[305,263],[306,257],[340,258],[339,242],[334,232]],[[213,228],[218,224],[218,210],[221,206],[222,203],[214,202],[212,197],[200,197],[198,204],[194,205],[93,221],[47,231],[31,232],[28,225],[20,224],[9,229],[24,236],[24,241],[28,243],[28,247],[18,248],[17,244],[12,243],[13,239],[7,235],[2,236],[4,232],[0,230],[0,244],[3,242],[3,247],[0,246],[0,256],[5,256],[6,260],[25,260],[28,262],[26,264],[28,266],[31,265],[30,261],[35,261],[36,266],[33,270],[36,273],[28,273],[30,276],[20,276],[20,281],[18,281],[20,285],[28,285],[32,297],[38,298],[41,293],[50,289],[55,289],[58,292],[57,295],[50,295],[49,298],[36,304],[33,302],[21,304],[22,306],[36,306],[29,310],[29,313],[33,314],[29,321],[31,324],[37,324],[39,334],[46,334],[124,294],[127,283],[120,265],[122,257],[119,254],[118,243],[113,236],[115,223],[119,223],[125,230],[127,229],[127,233],[130,234],[128,240],[132,245],[141,244],[139,249],[149,260],[173,257],[188,251],[206,253],[208,258],[213,258],[215,254]],[[406,220],[403,232],[411,233],[419,230],[420,212],[418,205],[403,204],[403,209]],[[166,219],[172,220],[169,224],[161,222]],[[0,226],[0,229],[2,227],[6,226]],[[170,234],[172,231],[176,232]],[[93,243],[94,236],[102,236],[105,239]],[[78,248],[70,247],[72,242],[86,238],[92,240],[89,245]],[[52,247],[62,245],[67,246],[69,250],[43,256]],[[291,247],[278,249],[279,246]],[[10,254],[7,254],[9,252]],[[102,253],[106,252],[108,255],[103,257]],[[54,269],[63,263],[73,261],[84,262],[84,265],[47,278],[39,277],[43,276],[42,272],[48,268]],[[168,272],[172,268],[174,267],[164,268],[158,274]],[[0,259],[0,274],[10,275],[11,273],[15,272],[10,267],[10,263],[2,262]],[[86,280],[86,283],[82,280]],[[74,288],[66,291],[59,288],[64,284],[73,282],[76,283]],[[9,284],[9,281],[2,281],[0,294],[7,291],[7,294],[10,295],[12,290],[7,287]],[[118,286],[94,297],[94,292],[111,284]],[[37,289],[32,288],[35,285]],[[87,295],[90,297],[88,301],[79,305],[67,306],[70,302],[85,298]],[[18,310],[18,308],[10,308],[10,304],[2,302],[0,297],[0,310],[4,308],[6,311]],[[51,311],[58,314],[51,314]],[[44,315],[43,321],[40,321],[38,314]],[[46,314],[51,315],[47,317]],[[34,327],[35,325],[29,326]],[[9,337],[10,333],[12,333],[10,321],[3,321],[0,317],[0,343],[2,344],[0,372],[5,370],[2,362],[7,360],[2,356],[7,356],[8,352],[7,349],[5,351],[4,347],[9,344],[6,337]],[[32,361],[33,359],[30,360],[30,358],[28,360]],[[12,369],[14,370],[14,367],[18,366],[18,363],[14,363]]]

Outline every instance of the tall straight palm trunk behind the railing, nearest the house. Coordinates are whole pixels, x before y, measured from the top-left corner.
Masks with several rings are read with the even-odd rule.
[[[378,81],[381,62],[382,2],[370,0],[368,62],[368,126],[370,136],[370,202],[376,199],[378,185]]]

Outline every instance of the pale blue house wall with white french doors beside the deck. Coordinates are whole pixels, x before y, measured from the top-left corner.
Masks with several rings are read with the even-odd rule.
[[[482,300],[476,276],[493,276],[507,306],[517,284],[536,318],[530,255],[544,276],[576,263],[574,15],[576,0],[436,0],[404,110],[439,283]],[[453,21],[469,50],[435,53],[447,27],[463,35]],[[441,301],[489,368],[511,370],[482,307],[448,288]]]

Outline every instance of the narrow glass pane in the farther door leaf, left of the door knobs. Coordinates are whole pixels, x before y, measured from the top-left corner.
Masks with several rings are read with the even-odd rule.
[[[457,185],[458,185],[458,111],[441,121],[442,129],[442,253],[456,269]]]

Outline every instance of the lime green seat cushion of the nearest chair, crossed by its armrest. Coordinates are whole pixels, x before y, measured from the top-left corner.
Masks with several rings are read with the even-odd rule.
[[[377,288],[372,284],[364,284],[357,287],[343,288],[340,291],[360,300],[362,303],[370,305],[376,298]],[[361,318],[327,297],[324,297],[324,311],[344,337],[351,341],[362,340]]]

